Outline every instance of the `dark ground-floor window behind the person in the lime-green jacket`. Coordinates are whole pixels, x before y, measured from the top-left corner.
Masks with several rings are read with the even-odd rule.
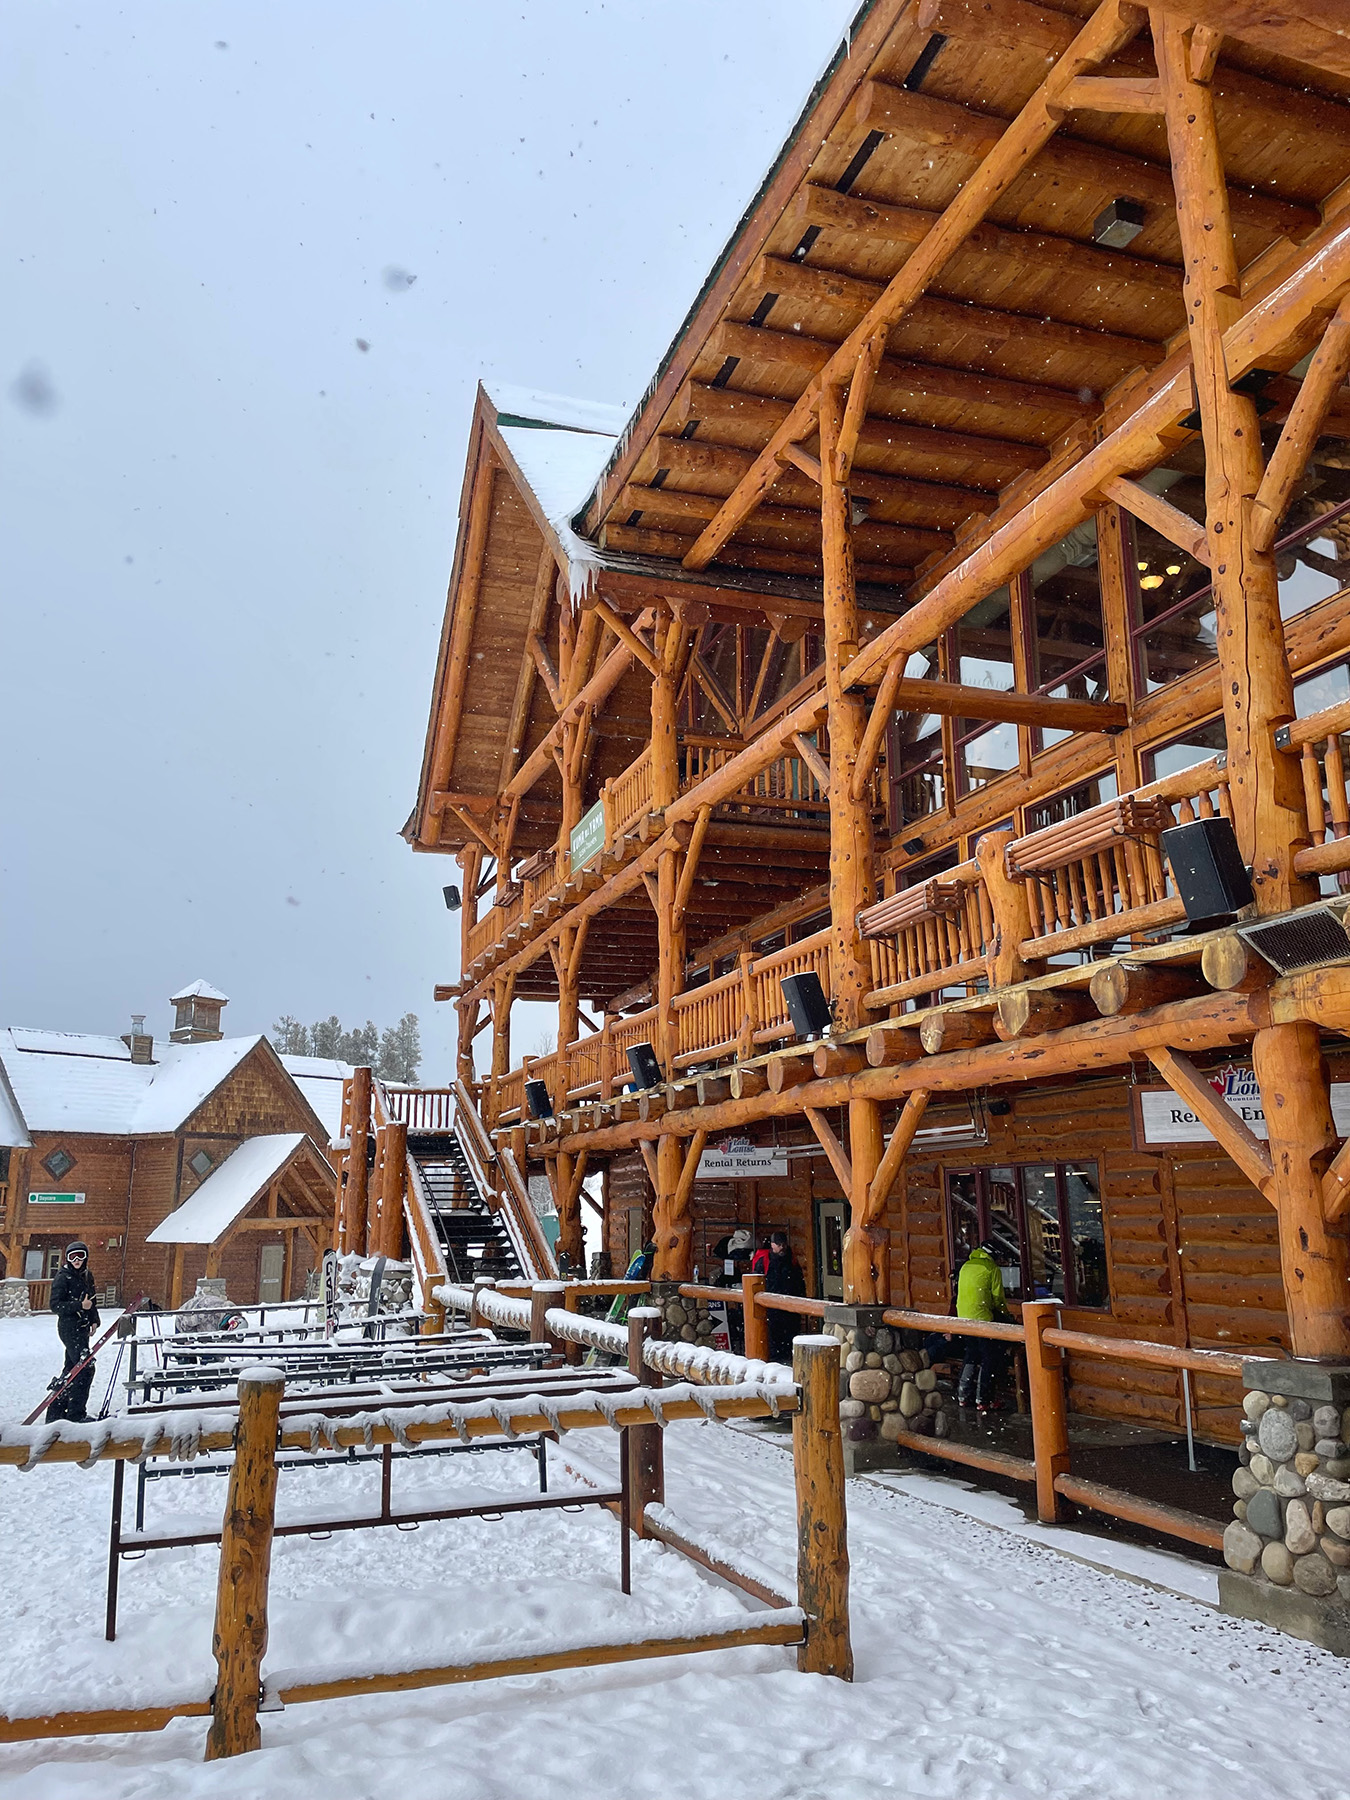
[[[992,1244],[1008,1300],[1107,1307],[1107,1242],[1096,1163],[1028,1163],[947,1172],[952,1282]]]

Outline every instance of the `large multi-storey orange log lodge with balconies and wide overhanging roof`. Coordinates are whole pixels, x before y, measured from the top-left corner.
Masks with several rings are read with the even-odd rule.
[[[572,1267],[1350,1352],[1345,23],[871,0],[632,418],[479,391],[405,835]]]

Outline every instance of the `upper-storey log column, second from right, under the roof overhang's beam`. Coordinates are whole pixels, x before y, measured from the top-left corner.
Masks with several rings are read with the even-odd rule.
[[[875,857],[871,806],[866,796],[850,796],[868,720],[864,697],[848,691],[848,664],[859,652],[859,603],[848,484],[837,468],[842,416],[842,392],[826,389],[821,394],[821,554],[830,704],[830,986],[835,1024],[853,1031],[868,1022],[862,995],[871,988],[871,958],[857,916],[873,896]]]

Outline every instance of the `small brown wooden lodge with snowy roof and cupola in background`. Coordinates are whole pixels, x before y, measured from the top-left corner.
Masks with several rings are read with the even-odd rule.
[[[34,1309],[76,1237],[104,1303],[162,1307],[202,1274],[236,1303],[295,1298],[331,1242],[349,1067],[225,1037],[205,981],[171,1004],[167,1042],[142,1015],[121,1039],[0,1030],[0,1258]]]

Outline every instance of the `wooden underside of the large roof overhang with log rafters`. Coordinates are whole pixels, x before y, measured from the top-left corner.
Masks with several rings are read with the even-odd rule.
[[[1278,5],[1179,11],[1226,31],[1229,14],[1264,22],[1255,40],[1210,41],[1256,293],[1348,198],[1345,20],[1330,0],[1300,5],[1289,32]],[[1111,88],[1048,86],[1091,14],[1091,0],[864,9],[592,495],[601,545],[706,583],[815,574],[812,400],[866,355],[859,580],[911,599],[1188,365],[1143,9],[1107,5],[1078,40],[1109,52],[1085,67]],[[1316,67],[1292,59],[1310,50]],[[1129,250],[1093,241],[1118,198],[1145,211]],[[1301,355],[1292,338],[1282,349],[1274,367]]]

